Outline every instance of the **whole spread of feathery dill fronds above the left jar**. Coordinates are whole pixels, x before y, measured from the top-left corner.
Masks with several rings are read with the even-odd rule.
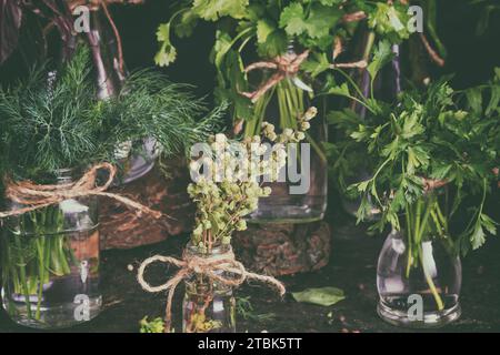
[[[0,168],[13,179],[39,180],[57,170],[118,163],[117,146],[146,136],[164,155],[203,141],[222,115],[208,113],[189,85],[152,70],[130,75],[117,98],[99,101],[89,51],[80,45],[60,70],[49,64],[0,90]],[[197,121],[197,118],[204,116]]]

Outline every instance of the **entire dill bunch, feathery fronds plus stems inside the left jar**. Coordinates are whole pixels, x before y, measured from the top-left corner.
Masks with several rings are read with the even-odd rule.
[[[61,174],[102,162],[118,163],[117,146],[144,135],[153,136],[164,155],[183,154],[218,124],[220,110],[197,122],[194,118],[207,111],[189,88],[150,70],[128,78],[116,98],[98,100],[89,60],[87,48],[80,47],[60,70],[49,71],[44,64],[12,88],[0,90],[0,175],[7,184],[53,189]],[[68,178],[62,183],[68,185]],[[30,201],[10,201],[8,207],[27,207]],[[96,209],[76,199],[6,219],[2,281],[11,294],[23,297],[29,320],[40,321],[44,285],[79,266],[80,251],[71,246],[66,220],[83,211],[88,215],[74,223],[80,229],[92,227],[89,240],[98,242]],[[30,300],[38,300],[36,312]]]

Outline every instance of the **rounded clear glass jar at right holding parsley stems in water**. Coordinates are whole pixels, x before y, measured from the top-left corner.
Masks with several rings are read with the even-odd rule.
[[[461,313],[460,257],[432,195],[409,206],[402,232],[393,230],[379,255],[378,314],[394,325],[438,327]]]

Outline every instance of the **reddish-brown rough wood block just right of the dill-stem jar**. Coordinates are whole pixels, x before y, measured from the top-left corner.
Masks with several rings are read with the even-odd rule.
[[[167,170],[169,178],[157,165],[141,179],[110,191],[161,211],[171,219],[139,217],[134,211],[113,200],[102,200],[101,250],[152,244],[191,230],[194,209],[186,192],[190,181],[188,169],[179,162],[170,162]]]

